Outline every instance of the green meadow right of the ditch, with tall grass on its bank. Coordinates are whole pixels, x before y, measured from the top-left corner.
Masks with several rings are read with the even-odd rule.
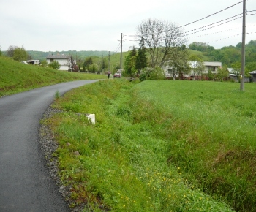
[[[189,183],[216,195],[236,211],[256,211],[255,84],[145,82],[142,99],[171,118],[158,134],[168,141],[168,162]]]

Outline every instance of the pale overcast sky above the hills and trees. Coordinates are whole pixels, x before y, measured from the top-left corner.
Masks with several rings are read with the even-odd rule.
[[[0,46],[26,50],[108,50],[119,52],[121,33],[123,51],[131,42],[138,25],[148,18],[170,21],[184,26],[224,10],[241,0],[0,0]],[[246,1],[246,43],[256,40],[256,1]],[[243,3],[210,18],[184,26],[190,31],[233,17],[243,12]],[[239,16],[236,16],[238,18]],[[230,19],[228,19],[230,20]],[[207,29],[203,28],[203,29]],[[202,29],[200,29],[202,30]],[[194,31],[192,31],[194,32]],[[214,48],[241,42],[242,18],[188,35],[192,42],[206,42]],[[229,38],[228,38],[229,37]]]

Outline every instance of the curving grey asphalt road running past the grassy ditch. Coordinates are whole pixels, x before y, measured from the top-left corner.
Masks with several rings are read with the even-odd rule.
[[[94,83],[80,80],[0,99],[0,211],[69,211],[50,178],[38,142],[39,121],[56,91]]]

